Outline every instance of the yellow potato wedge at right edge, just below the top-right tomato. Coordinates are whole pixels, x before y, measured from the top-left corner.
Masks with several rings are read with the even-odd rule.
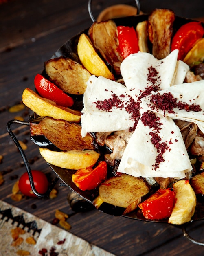
[[[204,38],[197,40],[193,48],[186,54],[183,61],[190,67],[196,61],[204,61]]]

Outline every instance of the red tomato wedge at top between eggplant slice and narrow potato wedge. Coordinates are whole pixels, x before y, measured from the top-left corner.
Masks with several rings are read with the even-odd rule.
[[[118,26],[119,51],[123,58],[139,51],[138,36],[133,27]]]

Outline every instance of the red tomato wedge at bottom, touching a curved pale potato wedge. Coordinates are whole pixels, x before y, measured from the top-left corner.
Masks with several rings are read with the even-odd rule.
[[[160,220],[171,215],[175,193],[171,189],[158,189],[147,200],[138,205],[143,215],[149,220]]]

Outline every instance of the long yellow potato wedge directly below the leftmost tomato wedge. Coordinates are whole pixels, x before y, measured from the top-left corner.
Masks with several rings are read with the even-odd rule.
[[[79,123],[81,119],[81,112],[57,106],[54,101],[42,98],[29,88],[23,91],[22,101],[28,108],[41,117],[48,116],[76,123]]]

